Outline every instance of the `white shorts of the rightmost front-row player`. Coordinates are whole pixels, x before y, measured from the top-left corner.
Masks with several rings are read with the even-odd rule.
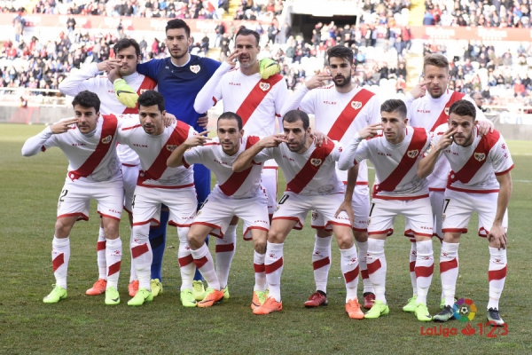
[[[467,233],[469,218],[474,211],[479,214],[479,236],[486,238],[497,214],[498,193],[462,193],[445,190],[443,200],[443,233]],[[508,210],[503,218],[508,230]]]

